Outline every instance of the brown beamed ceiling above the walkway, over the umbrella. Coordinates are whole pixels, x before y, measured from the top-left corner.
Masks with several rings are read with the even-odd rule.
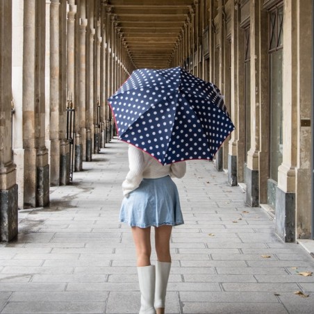
[[[109,0],[135,67],[169,67],[194,0]]]

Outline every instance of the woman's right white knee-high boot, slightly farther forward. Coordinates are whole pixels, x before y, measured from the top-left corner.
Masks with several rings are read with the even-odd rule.
[[[155,308],[165,308],[171,263],[156,262]]]

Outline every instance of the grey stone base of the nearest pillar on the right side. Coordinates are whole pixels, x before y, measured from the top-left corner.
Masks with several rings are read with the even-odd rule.
[[[284,242],[295,242],[295,193],[276,188],[275,215],[277,236]]]

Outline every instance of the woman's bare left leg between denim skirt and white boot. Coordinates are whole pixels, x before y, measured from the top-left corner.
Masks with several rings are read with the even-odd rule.
[[[138,267],[151,265],[151,227],[140,228],[133,226],[132,233],[138,257],[136,265]]]

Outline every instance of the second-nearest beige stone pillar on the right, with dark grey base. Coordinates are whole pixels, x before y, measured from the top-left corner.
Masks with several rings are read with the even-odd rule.
[[[262,25],[267,25],[267,13],[261,8],[261,1],[251,0],[250,19],[251,19],[251,148],[247,154],[247,204],[249,206],[259,206],[261,187],[267,186],[268,167],[265,163],[268,159],[267,130],[264,127],[269,124],[266,122],[269,110],[267,109],[267,42],[266,32],[261,32]],[[264,34],[265,33],[265,34]],[[264,126],[266,124],[266,126]],[[263,131],[262,131],[263,130]],[[263,136],[262,136],[263,135]],[[261,142],[263,141],[263,145]],[[264,145],[264,142],[265,145]],[[267,156],[266,156],[267,155]],[[261,158],[263,157],[263,158]],[[263,172],[259,169],[263,165]],[[266,179],[266,180],[265,180]],[[261,185],[263,182],[263,185]],[[263,197],[264,198],[264,197]]]

